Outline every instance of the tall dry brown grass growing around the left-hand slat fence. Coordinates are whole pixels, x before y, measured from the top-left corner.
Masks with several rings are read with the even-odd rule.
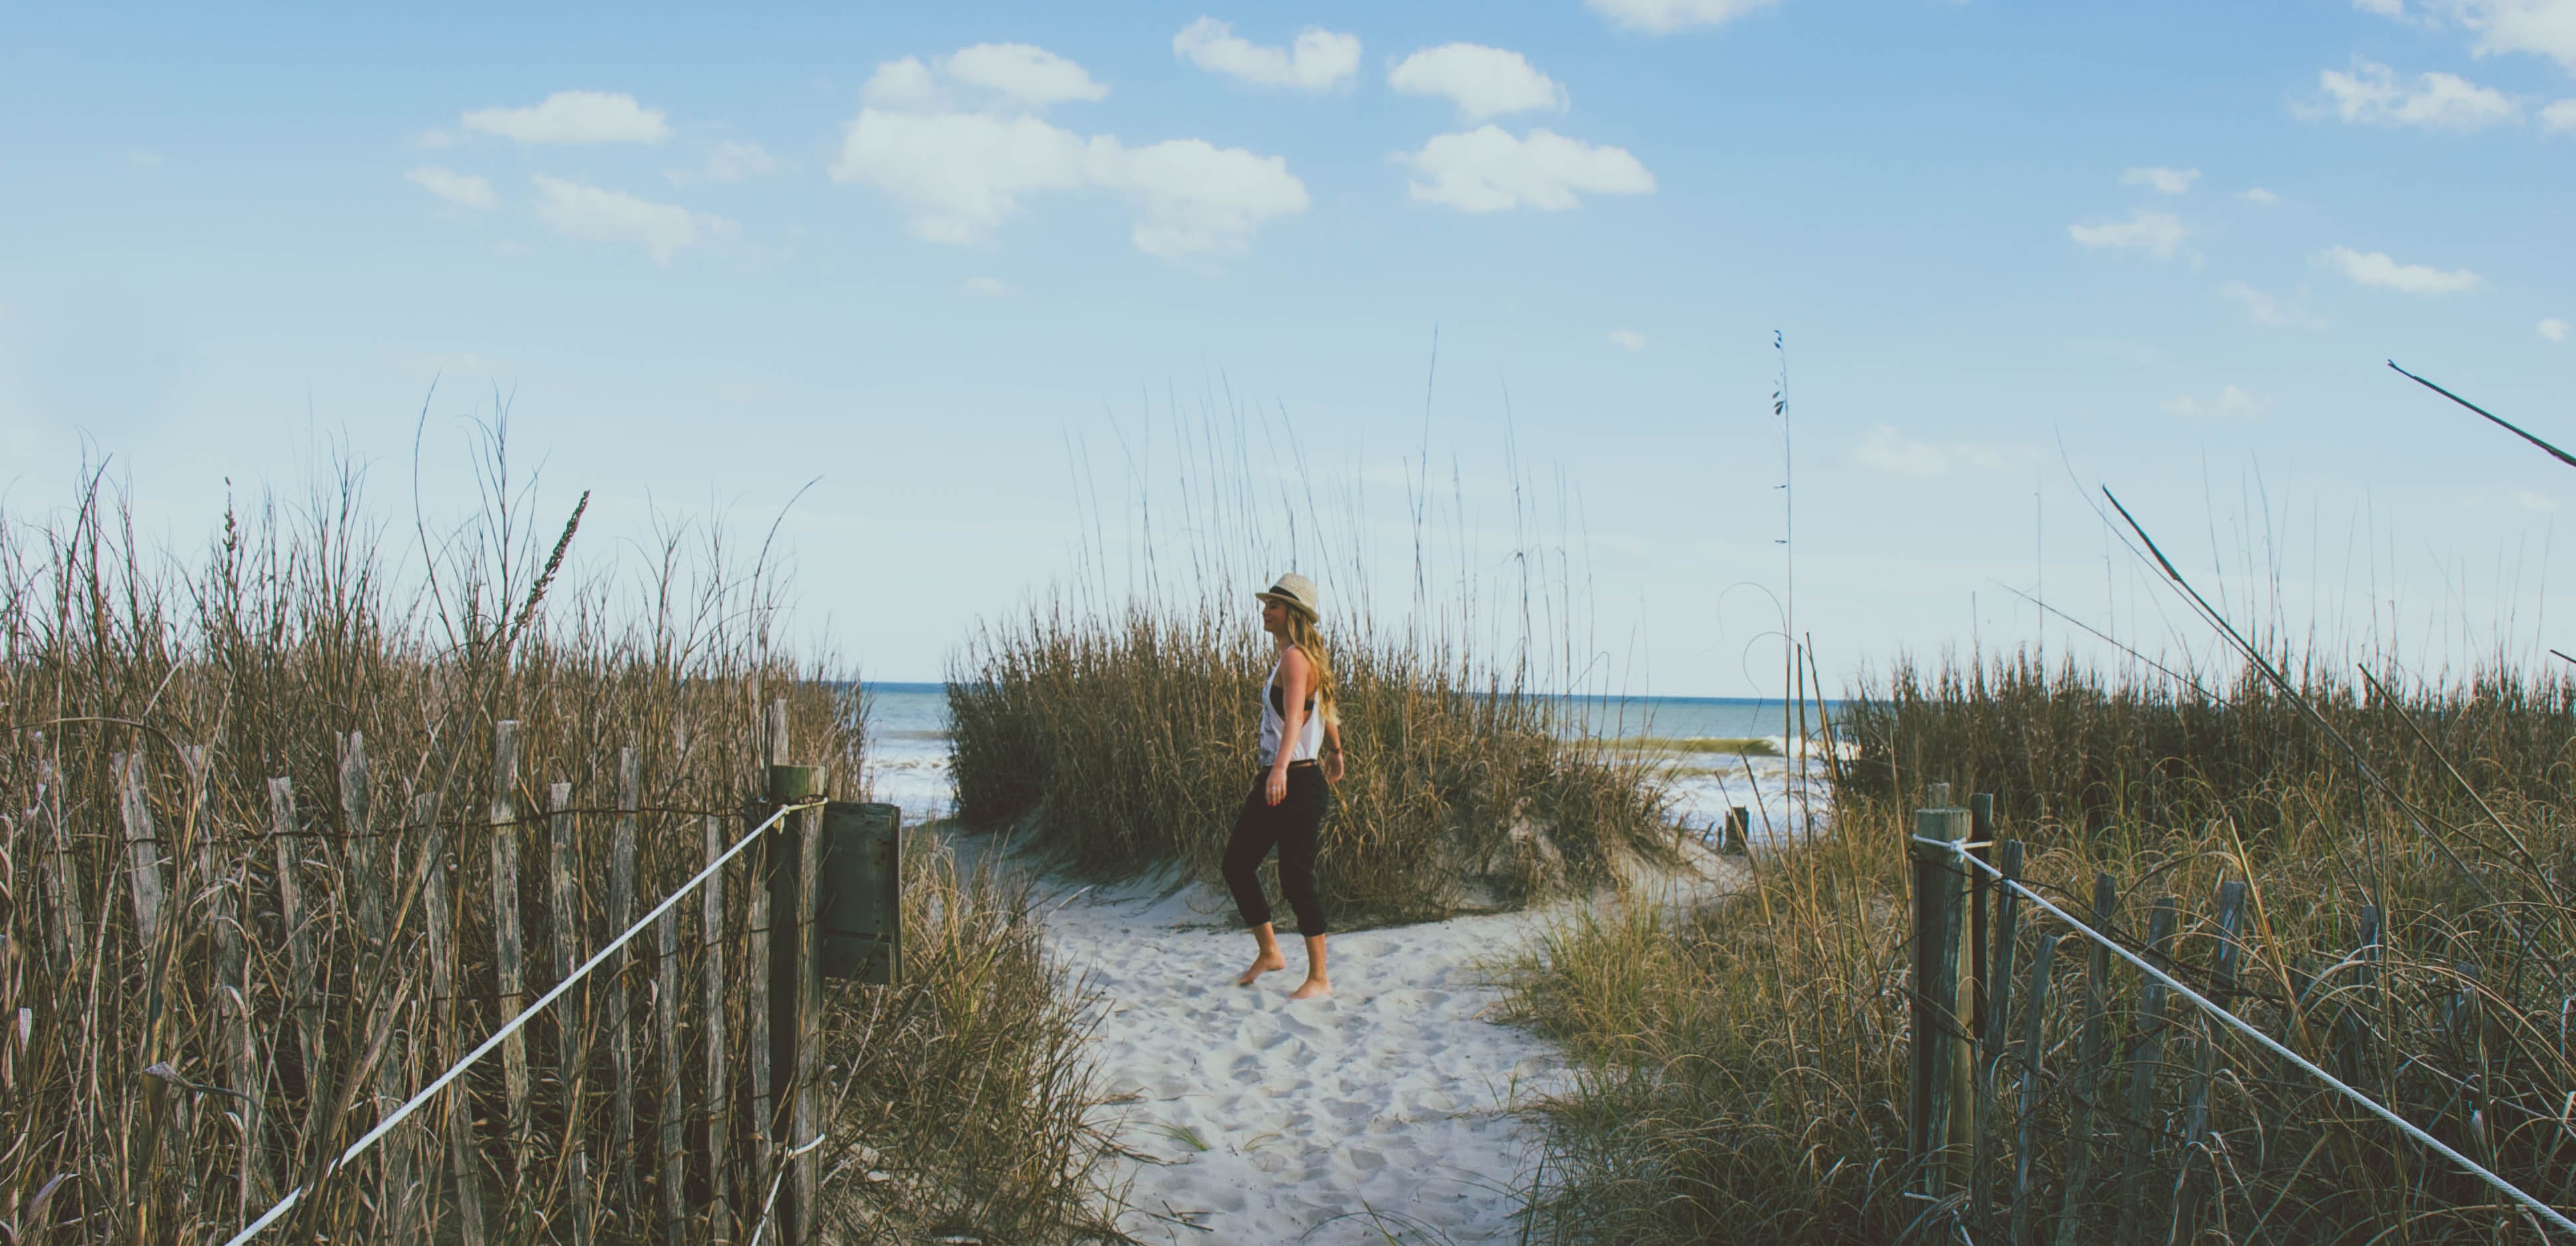
[[[760,788],[770,700],[791,708],[799,762],[824,765],[842,788],[860,775],[858,693],[827,680],[824,662],[775,644],[781,587],[770,561],[729,548],[719,528],[672,525],[641,577],[621,579],[608,564],[582,572],[582,559],[567,561],[580,515],[531,528],[526,481],[510,476],[497,440],[484,451],[487,510],[453,530],[389,538],[353,471],[317,481],[301,505],[229,512],[193,556],[147,548],[95,476],[54,520],[0,523],[8,1241],[222,1241],[399,1102],[384,1097],[389,1084],[417,1086],[487,1035],[515,1007],[495,991],[495,837],[523,839],[528,996],[551,986],[559,929],[544,865],[549,780],[580,793],[572,886],[582,922],[562,934],[587,950],[611,934],[605,829],[621,749],[639,752],[644,780],[639,904],[703,865],[706,816],[739,826],[744,798]],[[520,723],[523,788],[510,793],[518,821],[495,829],[484,811],[500,718]],[[374,770],[371,821],[355,819],[371,826],[366,834],[353,834],[340,736],[363,736]],[[121,801],[111,757],[137,759],[139,808]],[[276,775],[291,777],[301,808],[283,834],[270,821]],[[422,808],[435,811],[446,847],[428,862]],[[137,814],[157,826],[142,850],[129,842]],[[137,860],[157,860],[167,883],[170,909],[152,937],[139,927]],[[451,906],[451,996],[430,991],[417,953],[430,873]],[[289,929],[281,883],[296,878],[304,922]],[[945,880],[935,893],[945,916],[933,922],[945,932],[922,927],[917,937],[938,953],[922,958],[912,983],[878,991],[868,1007],[907,1017],[894,1027],[904,1035],[971,1025],[997,1007],[1051,1017],[1056,981],[1025,955],[1025,914],[989,886]],[[729,1195],[739,1218],[755,1192],[708,1187],[703,1156],[714,1120],[747,1115],[747,1050],[734,1040],[732,1084],[703,1084],[696,983],[706,947],[732,942],[724,999],[739,1012],[744,896],[734,873],[729,929],[701,932],[698,904],[680,909],[688,1019],[677,1053],[639,1053],[639,1068],[659,1068],[665,1055],[688,1061],[690,1076],[677,1081],[688,1110],[677,1169],[662,1166],[654,1146],[659,1074],[636,1076],[636,1135],[611,1128],[603,983],[585,1009],[559,1007],[531,1025],[528,1050],[544,1055],[531,1061],[541,1076],[526,1099],[505,1092],[500,1055],[487,1058],[379,1151],[410,1146],[407,1171],[371,1156],[322,1184],[276,1238],[453,1241],[456,1187],[435,1174],[448,1112],[466,1112],[484,1140],[474,1166],[487,1241],[554,1241],[567,1231],[567,1151],[587,1158],[592,1182],[621,1169],[647,1182],[641,1192],[608,1192],[598,1241],[665,1241],[665,1187],[685,1195],[690,1233],[732,1231],[742,1241],[747,1225],[708,1223],[719,1215],[708,1200]],[[649,965],[647,955],[626,978],[647,1035]],[[585,1030],[562,1035],[567,1017],[587,1017]],[[726,1025],[729,1035],[739,1030]],[[247,1081],[237,1076],[245,1032],[258,1050]],[[567,1037],[585,1053],[572,1076],[551,1055]],[[1072,1035],[1061,1019],[938,1050],[958,1076],[989,1071],[1030,1125],[974,1148],[976,1164],[1061,1166],[1090,1153],[1077,1133],[1082,1081],[1025,1076],[1066,1068]],[[884,1053],[840,1048],[837,1058],[848,1068]],[[845,1115],[894,1102],[884,1079],[850,1081],[842,1094]],[[992,1112],[989,1102],[904,1094],[925,1112],[920,1128],[966,1128],[969,1110]],[[549,1146],[502,1146],[513,1117],[531,1120]],[[920,1146],[927,1151],[881,1166],[958,1189],[994,1187],[953,1171],[951,1151]],[[1054,1182],[1005,1184],[1010,1192],[987,1202],[1010,1205],[1015,1225],[1090,1215],[1092,1192],[1077,1197],[1061,1171]],[[1030,1228],[1023,1241],[1048,1238]]]

